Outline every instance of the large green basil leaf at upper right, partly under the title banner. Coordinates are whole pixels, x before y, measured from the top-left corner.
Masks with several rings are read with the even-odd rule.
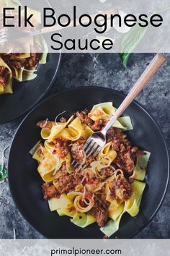
[[[127,62],[130,57],[130,54],[133,52],[140,40],[146,34],[147,27],[140,27],[136,24],[128,33],[122,37],[120,43],[120,59],[124,67],[127,67]]]

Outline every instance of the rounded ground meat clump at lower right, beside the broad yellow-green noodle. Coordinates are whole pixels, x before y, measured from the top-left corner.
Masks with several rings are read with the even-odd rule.
[[[130,186],[130,183],[124,176],[118,175],[115,179],[112,180],[109,184],[109,189],[111,192],[112,198],[120,199],[127,201],[132,193],[133,189]]]

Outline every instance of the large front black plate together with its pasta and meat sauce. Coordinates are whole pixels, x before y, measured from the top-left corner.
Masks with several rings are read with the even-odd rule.
[[[46,237],[130,238],[160,207],[169,156],[158,125],[137,102],[108,130],[97,155],[84,153],[88,137],[124,98],[111,89],[75,88],[22,121],[9,154],[9,185],[24,218]]]

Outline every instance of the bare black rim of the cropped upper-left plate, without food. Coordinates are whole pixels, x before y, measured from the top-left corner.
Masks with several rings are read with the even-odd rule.
[[[60,59],[60,54],[48,54],[47,63],[38,65],[34,80],[13,80],[14,93],[0,95],[0,124],[22,116],[40,101],[53,83]]]

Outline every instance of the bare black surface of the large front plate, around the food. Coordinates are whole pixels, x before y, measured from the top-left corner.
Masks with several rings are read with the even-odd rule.
[[[97,224],[81,229],[69,221],[50,213],[48,202],[42,200],[42,183],[37,173],[37,163],[29,154],[40,139],[40,129],[35,124],[40,119],[55,119],[57,114],[91,108],[94,104],[112,101],[119,106],[125,95],[106,88],[75,88],[53,95],[40,103],[22,121],[12,142],[9,154],[9,186],[24,218],[48,238],[102,238]],[[143,194],[140,213],[135,218],[125,214],[120,229],[112,237],[130,238],[145,227],[161,205],[169,180],[169,155],[164,137],[153,118],[137,102],[125,111],[133,121],[133,131],[128,138],[134,145],[151,152],[146,176],[147,187]]]

